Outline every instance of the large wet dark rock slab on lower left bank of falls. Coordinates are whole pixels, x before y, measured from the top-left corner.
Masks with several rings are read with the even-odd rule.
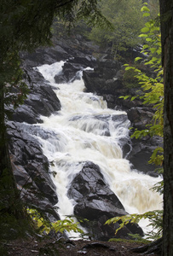
[[[59,218],[54,210],[58,202],[55,184],[49,173],[49,160],[34,135],[48,136],[37,126],[8,122],[9,151],[14,177],[26,205]]]

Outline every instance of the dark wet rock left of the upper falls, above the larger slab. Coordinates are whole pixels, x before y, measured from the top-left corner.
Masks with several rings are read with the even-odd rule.
[[[24,104],[15,109],[10,119],[28,124],[42,123],[40,115],[49,116],[59,111],[61,102],[37,70],[25,67],[25,71],[30,93]]]

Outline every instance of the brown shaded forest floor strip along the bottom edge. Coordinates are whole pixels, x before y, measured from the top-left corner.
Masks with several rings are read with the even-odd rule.
[[[64,240],[61,239],[37,239],[32,237],[30,239],[16,239],[13,241],[6,241],[0,245],[1,255],[109,255],[109,256],[137,256],[141,253],[133,252],[136,247],[144,247],[145,245],[137,241],[83,241],[83,240]],[[139,251],[139,250],[138,250]],[[142,253],[142,255],[144,255]],[[158,255],[148,253],[147,255]]]

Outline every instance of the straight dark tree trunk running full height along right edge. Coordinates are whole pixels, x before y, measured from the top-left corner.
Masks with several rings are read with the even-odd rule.
[[[173,1],[160,0],[164,65],[163,256],[173,255]]]

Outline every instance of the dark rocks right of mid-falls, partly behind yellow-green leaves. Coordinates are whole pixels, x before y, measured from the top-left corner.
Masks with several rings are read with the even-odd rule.
[[[127,111],[127,116],[133,127],[131,134],[135,129],[139,131],[147,130],[147,125],[153,124],[153,113],[153,108],[130,108],[130,110]],[[148,164],[148,161],[155,148],[163,147],[163,139],[159,136],[141,137],[140,140],[133,137],[131,142],[132,150],[128,155],[128,159],[134,168],[150,176],[159,177],[159,174],[154,172],[156,166]]]

